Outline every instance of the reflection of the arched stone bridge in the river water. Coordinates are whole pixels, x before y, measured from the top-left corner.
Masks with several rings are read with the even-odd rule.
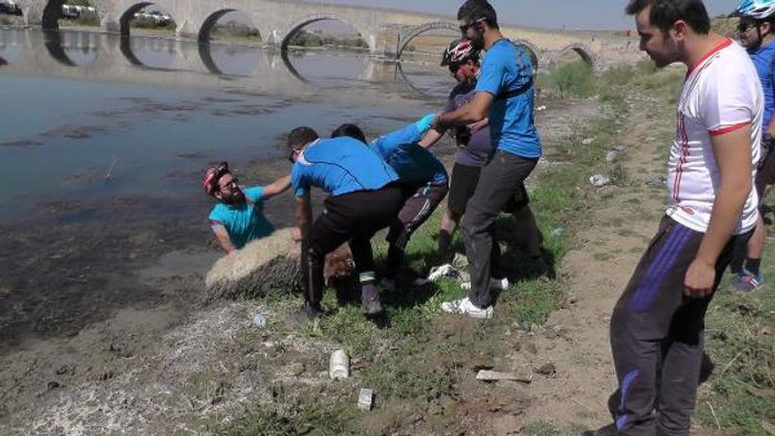
[[[15,40],[21,41],[17,43]],[[45,50],[39,50],[41,45]],[[8,56],[14,51],[19,63]],[[423,83],[423,78],[416,77],[413,72],[397,70],[395,64],[359,52],[281,52],[223,43],[200,44],[163,36],[2,30],[0,56],[6,61],[3,64],[11,66],[3,72],[22,75],[75,77],[73,74],[85,74],[108,81],[161,81],[173,86],[216,88],[226,79],[238,87],[261,92],[369,89],[374,83],[383,86],[392,83],[392,88],[420,97],[437,91],[435,84]],[[71,70],[75,66],[79,67],[77,73]],[[412,66],[410,69],[417,68]],[[174,77],[163,77],[172,72]],[[217,77],[204,78],[202,73]],[[399,81],[408,83],[408,86]],[[445,95],[445,90],[441,95]]]

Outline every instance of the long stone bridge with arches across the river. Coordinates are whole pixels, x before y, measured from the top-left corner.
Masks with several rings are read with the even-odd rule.
[[[21,0],[28,25],[44,30],[57,28],[65,0]],[[284,50],[290,37],[304,26],[321,20],[335,20],[353,26],[374,55],[400,58],[411,40],[422,33],[449,29],[458,34],[452,17],[423,14],[379,8],[308,3],[298,0],[92,0],[101,28],[109,33],[129,35],[134,12],[154,4],[170,13],[180,36],[209,40],[219,18],[238,11],[247,15],[263,41]],[[456,3],[455,3],[456,4]],[[451,12],[455,4],[450,4]],[[500,17],[502,22],[509,17]],[[566,32],[530,28],[503,26],[506,36],[529,50],[536,65],[550,66],[566,52],[575,52],[598,69],[621,64],[637,56],[636,42],[621,36],[601,36],[592,32]]]

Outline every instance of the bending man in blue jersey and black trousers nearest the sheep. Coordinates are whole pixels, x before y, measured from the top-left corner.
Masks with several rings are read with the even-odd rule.
[[[309,127],[288,135],[291,184],[297,198],[295,221],[302,238],[301,271],[304,287],[302,313],[325,314],[323,266],[325,254],[349,242],[360,281],[365,315],[383,313],[375,282],[372,237],[390,225],[402,205],[398,175],[377,153],[352,138],[320,139]],[[331,194],[324,209],[312,221],[310,190]]]

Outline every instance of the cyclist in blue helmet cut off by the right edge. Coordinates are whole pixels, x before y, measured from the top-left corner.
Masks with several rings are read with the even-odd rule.
[[[732,283],[738,291],[753,292],[764,286],[761,263],[767,235],[762,209],[775,182],[775,0],[743,0],[734,14],[740,17],[738,33],[756,67],[764,90],[762,145],[765,150],[755,183],[760,216],[756,230],[747,243],[745,265]]]

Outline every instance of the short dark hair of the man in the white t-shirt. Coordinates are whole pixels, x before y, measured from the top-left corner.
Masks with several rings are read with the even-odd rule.
[[[665,33],[678,20],[701,35],[710,32],[710,17],[702,0],[629,0],[625,12],[635,15],[648,7],[648,21]]]

